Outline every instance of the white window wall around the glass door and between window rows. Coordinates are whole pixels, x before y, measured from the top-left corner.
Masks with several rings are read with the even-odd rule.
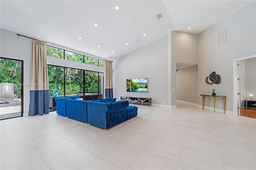
[[[31,70],[31,58],[32,58],[32,40],[30,38],[24,38],[17,36],[15,32],[0,29],[0,56],[10,59],[23,60],[24,65],[24,84],[30,84],[30,70]],[[90,71],[104,72],[104,67],[98,67],[94,65],[88,65],[84,63],[77,63],[74,61],[68,61],[64,59],[58,59],[54,57],[47,57],[47,64],[60,65],[64,67],[71,67],[77,69],[85,69]],[[30,103],[30,87],[24,86],[24,115],[28,113],[28,107]]]

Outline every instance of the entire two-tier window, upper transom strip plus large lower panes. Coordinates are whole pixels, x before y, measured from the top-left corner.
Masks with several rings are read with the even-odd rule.
[[[60,49],[46,45],[46,55],[64,60],[85,63],[104,67],[104,60],[89,57],[65,49]],[[102,83],[104,73],[74,68],[61,67],[58,65],[48,65],[50,111],[56,109],[54,91],[58,90],[58,96],[68,96],[78,94],[84,100],[102,98],[104,84]]]

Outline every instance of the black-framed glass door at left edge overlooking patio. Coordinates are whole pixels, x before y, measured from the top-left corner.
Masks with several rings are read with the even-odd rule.
[[[0,57],[0,120],[23,116],[23,61]]]

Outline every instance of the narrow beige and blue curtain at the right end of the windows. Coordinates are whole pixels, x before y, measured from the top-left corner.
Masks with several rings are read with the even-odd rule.
[[[105,98],[113,98],[112,61],[105,60]]]

